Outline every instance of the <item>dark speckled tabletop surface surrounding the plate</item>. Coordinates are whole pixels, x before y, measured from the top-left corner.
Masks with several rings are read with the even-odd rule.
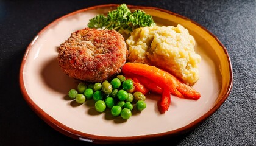
[[[226,102],[190,133],[146,144],[256,145],[256,1],[0,0],[0,145],[93,145],[55,131],[21,95],[19,70],[29,43],[60,16],[101,4],[159,7],[196,21],[219,38],[233,67]],[[36,84],[36,83],[35,83]]]

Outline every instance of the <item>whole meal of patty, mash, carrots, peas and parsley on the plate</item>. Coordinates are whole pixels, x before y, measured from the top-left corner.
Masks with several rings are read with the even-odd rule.
[[[124,40],[122,33],[129,34]],[[168,111],[171,94],[197,100],[191,86],[199,78],[200,55],[185,27],[156,26],[143,10],[131,12],[126,4],[96,15],[88,28],[77,30],[60,45],[58,60],[69,77],[82,80],[68,96],[77,103],[94,100],[96,111],[110,108],[127,120],[133,106],[146,108],[146,94],[161,94],[158,108]],[[129,49],[127,49],[127,46]],[[179,78],[179,79],[178,79]]]

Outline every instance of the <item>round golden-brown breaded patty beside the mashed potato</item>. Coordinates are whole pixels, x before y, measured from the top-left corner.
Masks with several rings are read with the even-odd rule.
[[[118,74],[128,55],[120,33],[89,28],[73,32],[58,51],[62,70],[85,82],[102,82]]]

